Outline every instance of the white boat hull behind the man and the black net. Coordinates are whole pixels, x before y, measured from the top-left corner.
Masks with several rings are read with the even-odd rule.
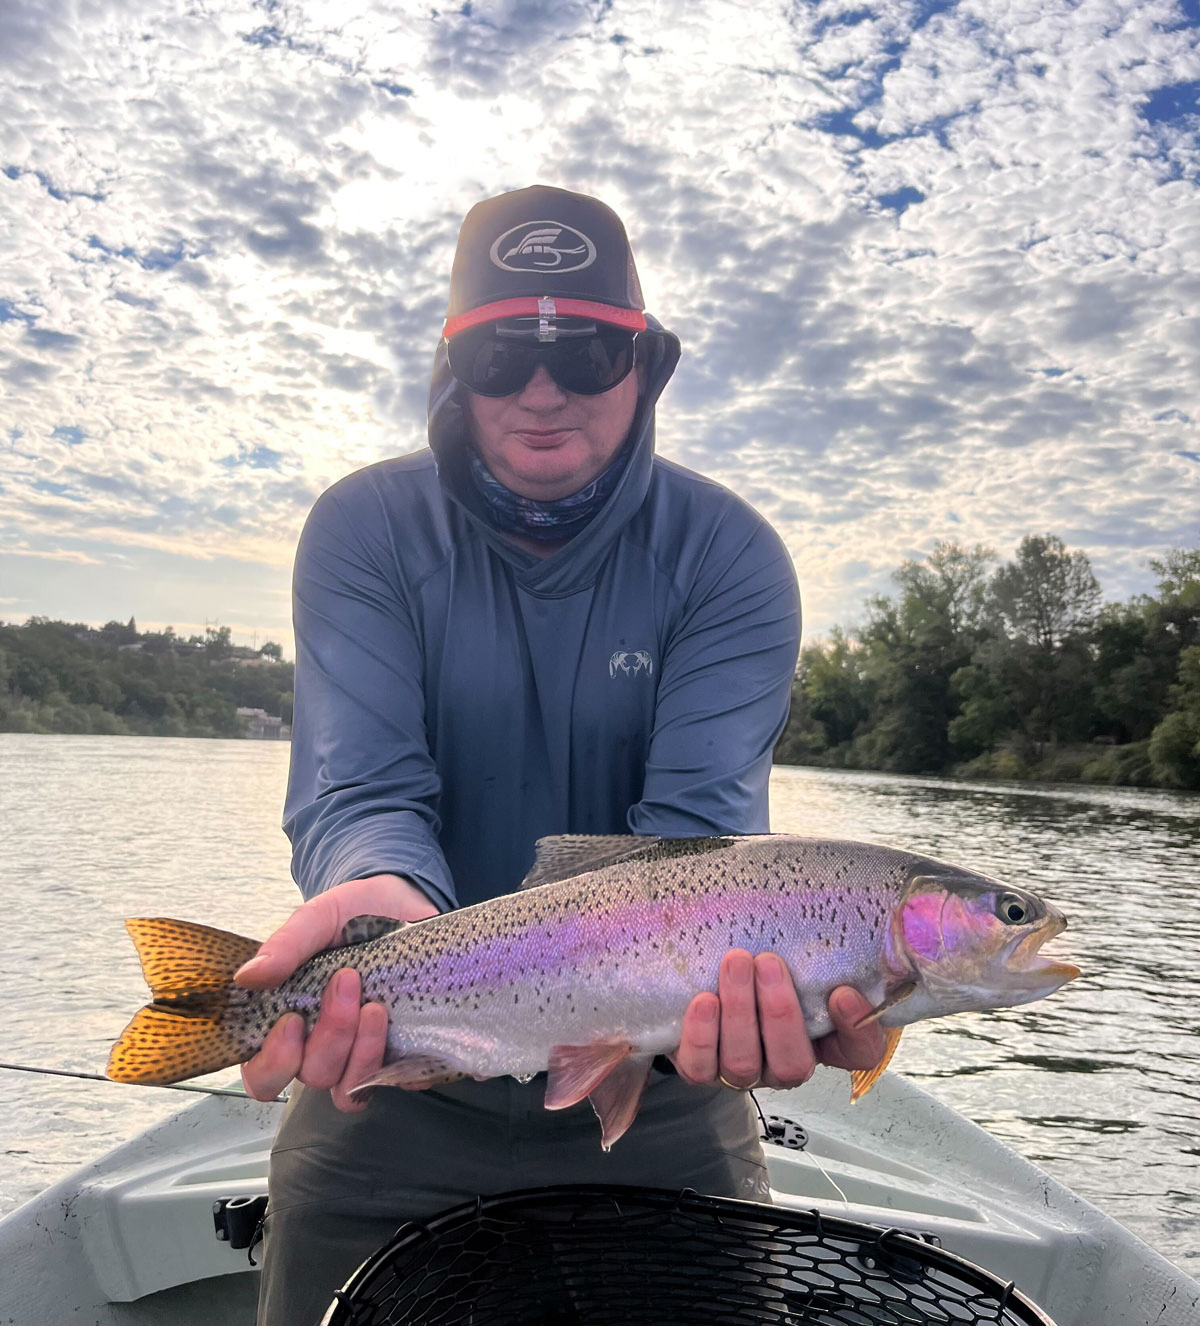
[[[808,1135],[766,1148],[777,1203],[933,1235],[1057,1326],[1200,1326],[1200,1284],[903,1078],[854,1109],[831,1071],[758,1098]],[[257,1274],[213,1204],[267,1191],[278,1109],[210,1097],[0,1221],[0,1322],[251,1326]]]

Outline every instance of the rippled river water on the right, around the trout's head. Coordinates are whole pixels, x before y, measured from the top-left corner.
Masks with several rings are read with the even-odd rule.
[[[1082,976],[904,1032],[894,1067],[1200,1272],[1200,798],[776,769],[777,831],[862,838],[1024,884]]]

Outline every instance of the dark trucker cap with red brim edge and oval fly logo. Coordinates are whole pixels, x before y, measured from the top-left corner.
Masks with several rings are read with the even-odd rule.
[[[448,339],[518,317],[646,330],[634,255],[611,207],[536,184],[471,208],[459,231],[442,334]]]

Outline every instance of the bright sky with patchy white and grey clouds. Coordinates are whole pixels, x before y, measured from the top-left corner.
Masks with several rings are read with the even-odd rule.
[[[1107,597],[1200,541],[1200,0],[5,0],[0,618],[288,633],[296,536],[423,446],[459,223],[629,228],[659,448],[809,638],[939,538]]]

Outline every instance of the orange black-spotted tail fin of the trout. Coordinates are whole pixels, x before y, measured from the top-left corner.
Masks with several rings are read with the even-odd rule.
[[[233,973],[259,951],[211,926],[162,918],[127,920],[154,997],[134,1014],[109,1055],[114,1082],[163,1085],[241,1063],[257,1049]]]

